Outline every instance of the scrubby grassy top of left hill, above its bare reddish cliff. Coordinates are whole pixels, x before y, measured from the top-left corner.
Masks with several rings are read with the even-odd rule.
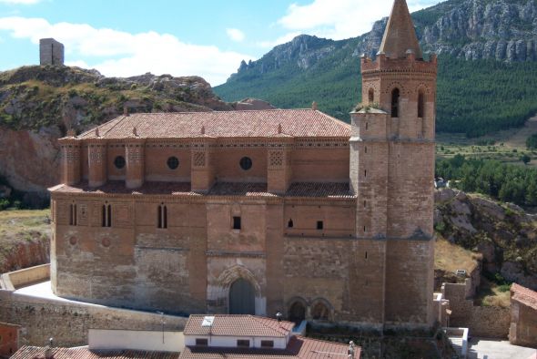
[[[0,126],[82,130],[129,112],[231,109],[201,77],[104,77],[79,67],[19,67],[0,73]]]

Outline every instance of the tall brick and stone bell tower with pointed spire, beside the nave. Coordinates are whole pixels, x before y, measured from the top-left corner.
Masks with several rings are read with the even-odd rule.
[[[405,0],[395,0],[376,60],[361,59],[363,108],[351,114],[359,305],[390,326],[432,323],[436,56],[423,59]],[[373,273],[382,272],[382,276]],[[363,295],[363,289],[369,289]]]

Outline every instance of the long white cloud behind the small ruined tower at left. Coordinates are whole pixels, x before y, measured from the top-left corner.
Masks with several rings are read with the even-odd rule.
[[[80,67],[95,67],[106,76],[144,74],[198,75],[216,86],[235,72],[242,59],[252,56],[222,51],[217,46],[181,42],[176,36],[148,31],[139,34],[95,28],[87,24],[50,24],[43,18],[3,17],[0,31],[34,44],[54,37],[66,46],[66,57]]]

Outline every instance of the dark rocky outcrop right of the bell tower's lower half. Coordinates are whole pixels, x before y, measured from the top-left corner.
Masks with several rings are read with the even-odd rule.
[[[483,270],[537,288],[536,215],[461,191],[435,191],[435,228],[449,241],[481,253]]]

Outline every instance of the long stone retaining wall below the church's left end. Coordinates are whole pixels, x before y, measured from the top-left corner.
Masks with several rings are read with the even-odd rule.
[[[54,338],[57,346],[87,344],[88,329],[181,331],[186,317],[137,312],[87,303],[35,298],[0,291],[0,318],[22,326],[20,344],[46,345]]]

